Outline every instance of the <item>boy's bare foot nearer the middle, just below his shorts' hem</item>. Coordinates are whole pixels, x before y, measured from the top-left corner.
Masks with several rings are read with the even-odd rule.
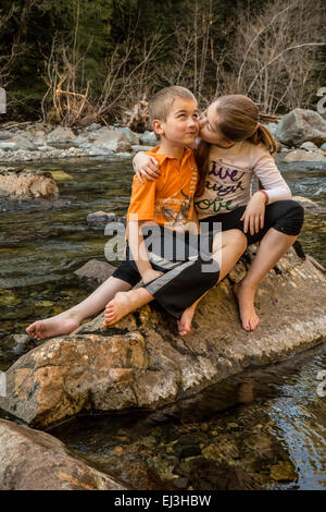
[[[121,318],[143,306],[152,298],[152,295],[143,288],[130,290],[129,292],[117,292],[112,301],[106,304],[103,326],[113,326]]]

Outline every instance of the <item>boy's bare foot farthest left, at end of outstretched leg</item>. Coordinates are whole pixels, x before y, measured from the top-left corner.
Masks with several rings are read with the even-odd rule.
[[[66,313],[61,313],[46,320],[37,320],[27,327],[26,332],[37,340],[46,340],[61,334],[70,334],[80,322]]]

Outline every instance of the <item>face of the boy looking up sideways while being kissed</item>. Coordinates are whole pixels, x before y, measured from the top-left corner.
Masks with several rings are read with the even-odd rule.
[[[199,133],[197,102],[192,99],[176,98],[166,121],[154,121],[153,127],[171,144],[191,146]]]

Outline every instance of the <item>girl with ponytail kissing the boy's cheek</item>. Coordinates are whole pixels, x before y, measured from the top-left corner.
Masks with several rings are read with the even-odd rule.
[[[195,200],[201,225],[214,233],[239,230],[248,245],[260,242],[258,254],[234,292],[242,327],[250,331],[259,325],[254,308],[255,291],[279,258],[296,241],[303,224],[304,210],[291,200],[291,192],[275,166],[272,154],[276,142],[259,122],[259,109],[242,95],[222,96],[200,117],[200,137],[196,149],[200,183]],[[160,174],[158,162],[142,153],[134,158],[135,171],[148,180]],[[253,176],[263,188],[251,195]],[[188,310],[190,330],[196,304]]]

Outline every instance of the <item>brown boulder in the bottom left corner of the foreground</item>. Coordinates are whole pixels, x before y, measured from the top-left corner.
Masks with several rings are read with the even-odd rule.
[[[0,490],[126,490],[46,432],[0,419]]]

